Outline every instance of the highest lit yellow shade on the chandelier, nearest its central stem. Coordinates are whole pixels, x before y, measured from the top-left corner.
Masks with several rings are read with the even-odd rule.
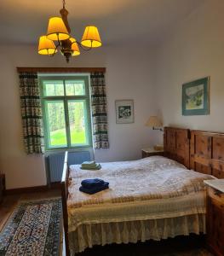
[[[66,25],[60,17],[52,17],[49,19],[47,38],[54,41],[62,41],[70,38]]]

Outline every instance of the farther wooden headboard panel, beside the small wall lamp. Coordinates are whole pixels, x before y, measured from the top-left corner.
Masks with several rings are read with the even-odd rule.
[[[164,156],[190,168],[190,130],[164,127]]]

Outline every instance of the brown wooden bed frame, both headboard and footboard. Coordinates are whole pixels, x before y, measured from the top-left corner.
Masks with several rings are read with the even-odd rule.
[[[61,178],[61,197],[64,219],[66,255],[70,255],[68,246],[67,197],[69,169],[67,156]],[[176,160],[196,172],[224,178],[224,133],[209,131],[190,131],[175,127],[164,127],[164,156]]]

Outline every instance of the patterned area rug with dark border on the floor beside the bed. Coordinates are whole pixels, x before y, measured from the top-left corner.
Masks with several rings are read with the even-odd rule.
[[[58,255],[60,199],[20,202],[0,233],[0,255]]]

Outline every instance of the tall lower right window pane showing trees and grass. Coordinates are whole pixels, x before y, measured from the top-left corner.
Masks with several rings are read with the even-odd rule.
[[[68,102],[71,144],[88,144],[86,102],[83,100]]]

